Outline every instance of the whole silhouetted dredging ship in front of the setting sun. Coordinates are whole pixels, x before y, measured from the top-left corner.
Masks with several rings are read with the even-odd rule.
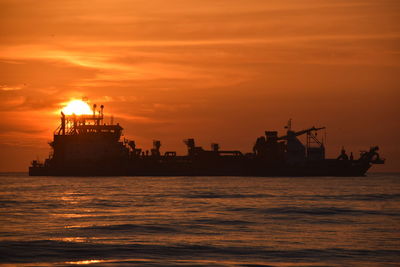
[[[359,158],[342,148],[337,158],[325,158],[324,140],[317,134],[325,127],[294,131],[289,120],[284,135],[265,131],[253,142],[252,152],[222,150],[211,144],[207,150],[194,138],[184,140],[186,155],[161,152],[161,142],[142,150],[134,140],[122,137],[119,123],[105,123],[104,106],[93,114],[65,115],[49,142],[44,161],[33,160],[31,176],[364,176],[373,164],[384,164],[378,146],[361,151]],[[305,136],[305,144],[299,139]],[[250,146],[251,147],[251,146]],[[250,149],[251,150],[251,149]]]

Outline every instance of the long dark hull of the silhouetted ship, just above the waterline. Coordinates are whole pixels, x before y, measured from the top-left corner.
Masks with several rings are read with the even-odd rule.
[[[364,176],[371,167],[358,161],[323,160],[302,164],[136,161],[115,164],[63,164],[29,168],[31,176]]]

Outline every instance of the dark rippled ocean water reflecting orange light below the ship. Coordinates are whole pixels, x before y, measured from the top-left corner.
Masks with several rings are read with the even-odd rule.
[[[400,174],[2,174],[0,263],[399,266]]]

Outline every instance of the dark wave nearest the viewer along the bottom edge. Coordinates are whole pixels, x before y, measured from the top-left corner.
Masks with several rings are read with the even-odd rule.
[[[297,249],[278,250],[259,247],[212,246],[196,244],[101,244],[50,240],[2,241],[3,263],[60,262],[74,259],[259,259],[274,262],[399,262],[400,250]]]

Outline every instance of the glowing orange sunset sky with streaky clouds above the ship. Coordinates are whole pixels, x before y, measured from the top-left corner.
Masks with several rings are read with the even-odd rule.
[[[0,0],[0,171],[48,155],[62,103],[106,106],[145,149],[250,151],[326,126],[400,171],[397,0]]]

